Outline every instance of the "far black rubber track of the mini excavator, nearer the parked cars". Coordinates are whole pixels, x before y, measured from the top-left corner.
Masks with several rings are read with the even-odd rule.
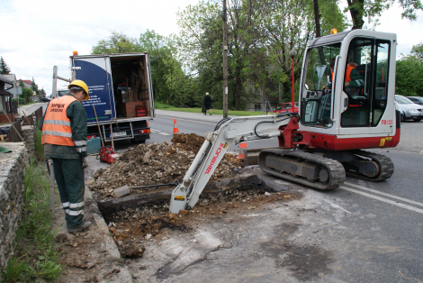
[[[358,156],[364,156],[365,158],[371,159],[372,161],[376,162],[379,165],[380,173],[377,177],[372,178],[372,177],[365,176],[364,174],[357,173],[356,171],[347,170],[347,176],[354,177],[354,178],[361,178],[371,182],[377,182],[377,181],[385,180],[387,178],[391,178],[393,174],[393,163],[389,157],[384,156],[382,154],[370,152],[370,151],[356,150],[356,151],[349,151],[349,152],[356,154]]]

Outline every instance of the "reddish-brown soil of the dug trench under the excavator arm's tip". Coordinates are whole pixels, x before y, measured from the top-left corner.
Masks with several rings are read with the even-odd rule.
[[[300,196],[289,192],[271,193],[263,187],[252,189],[228,189],[220,192],[203,193],[193,210],[181,210],[178,215],[170,214],[168,201],[151,203],[139,207],[127,207],[107,216],[109,224],[122,257],[128,257],[133,249],[130,244],[146,243],[150,239],[166,240],[180,233],[190,233],[199,222],[209,222],[213,218],[229,218],[242,211],[254,212],[261,206],[272,202],[286,202]],[[142,253],[139,254],[139,257]],[[136,258],[137,256],[130,256]]]

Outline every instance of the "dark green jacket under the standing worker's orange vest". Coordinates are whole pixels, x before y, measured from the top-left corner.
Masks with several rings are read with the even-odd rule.
[[[66,96],[71,96],[67,94]],[[70,120],[72,140],[74,142],[86,141],[86,113],[85,108],[79,101],[71,103],[66,110],[67,118]],[[42,131],[44,116],[40,120],[38,128]],[[75,160],[86,156],[86,151],[76,152],[75,146],[44,144],[44,156],[52,159]]]

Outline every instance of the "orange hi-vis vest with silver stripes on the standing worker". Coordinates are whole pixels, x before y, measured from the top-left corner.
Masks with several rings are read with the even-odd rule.
[[[74,96],[61,96],[51,100],[42,123],[41,144],[75,146],[70,120],[66,115],[67,107],[74,101]]]

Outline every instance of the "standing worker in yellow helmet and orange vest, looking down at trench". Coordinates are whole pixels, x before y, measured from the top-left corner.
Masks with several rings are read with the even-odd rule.
[[[53,160],[54,177],[65,212],[67,232],[82,232],[91,222],[84,222],[84,168],[86,156],[86,113],[88,87],[74,80],[69,93],[49,102],[40,120],[44,156]]]

